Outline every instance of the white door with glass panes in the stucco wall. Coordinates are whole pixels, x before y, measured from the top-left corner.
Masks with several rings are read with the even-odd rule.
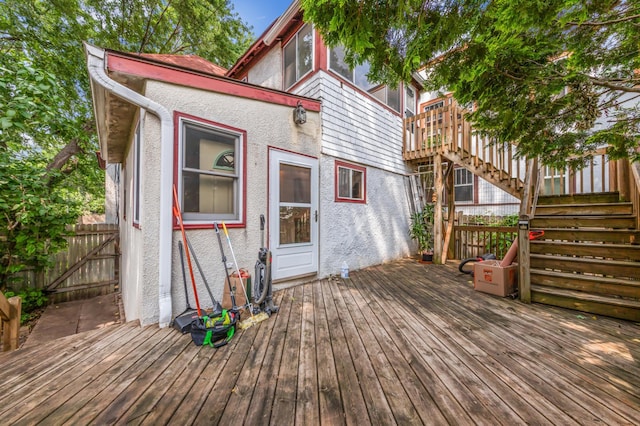
[[[269,150],[269,248],[274,280],[318,271],[318,160]]]

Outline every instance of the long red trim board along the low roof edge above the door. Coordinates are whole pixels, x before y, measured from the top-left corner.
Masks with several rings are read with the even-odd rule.
[[[224,93],[241,98],[254,99],[278,105],[295,107],[298,102],[309,111],[320,111],[320,101],[303,96],[292,95],[272,89],[254,86],[248,83],[231,80],[197,71],[176,69],[168,65],[147,62],[144,58],[131,58],[115,52],[107,52],[109,71],[136,75],[142,78],[164,81],[181,86]]]

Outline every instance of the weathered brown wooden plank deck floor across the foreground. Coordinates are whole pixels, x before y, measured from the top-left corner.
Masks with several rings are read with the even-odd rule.
[[[0,354],[0,424],[637,424],[640,326],[404,260],[278,291],[218,350],[134,323]]]

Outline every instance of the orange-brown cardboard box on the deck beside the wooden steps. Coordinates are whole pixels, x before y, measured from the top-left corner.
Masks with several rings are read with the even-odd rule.
[[[473,266],[473,287],[476,291],[505,297],[518,288],[518,265],[500,266],[499,260],[485,260]]]

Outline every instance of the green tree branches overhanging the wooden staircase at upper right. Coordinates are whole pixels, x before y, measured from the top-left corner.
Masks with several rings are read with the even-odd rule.
[[[301,0],[329,45],[370,77],[473,105],[469,120],[522,156],[579,166],[597,146],[640,160],[638,0]]]

